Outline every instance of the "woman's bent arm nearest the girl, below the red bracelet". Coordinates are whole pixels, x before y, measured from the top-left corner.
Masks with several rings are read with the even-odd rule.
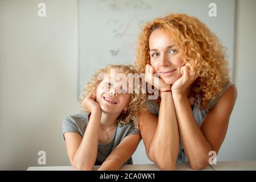
[[[162,170],[175,170],[179,153],[179,131],[171,92],[161,94],[159,117],[150,111],[139,113],[146,154]]]

